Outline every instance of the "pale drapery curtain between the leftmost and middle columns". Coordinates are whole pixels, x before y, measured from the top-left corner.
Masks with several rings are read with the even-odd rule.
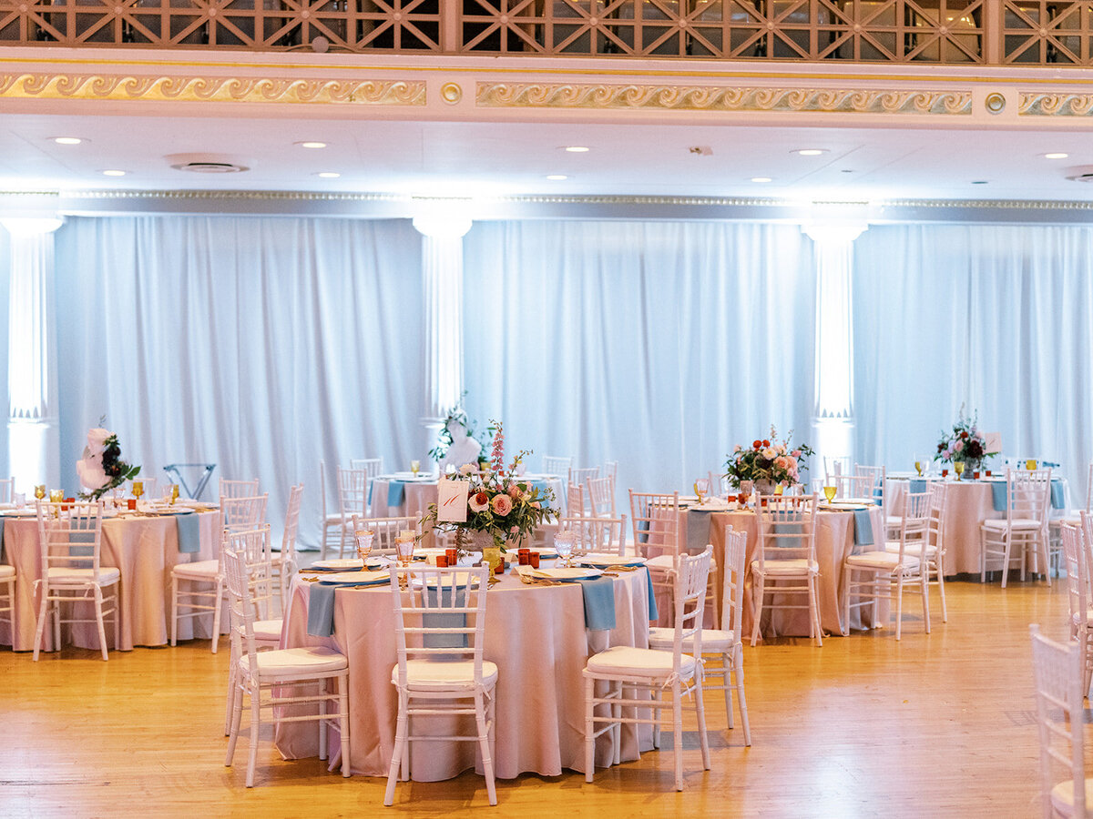
[[[303,480],[301,541],[317,543],[320,459],[333,500],[336,465],[427,448],[420,271],[408,221],[70,219],[56,274],[64,486],[105,415],[161,483],[175,462],[260,477],[275,530]]]

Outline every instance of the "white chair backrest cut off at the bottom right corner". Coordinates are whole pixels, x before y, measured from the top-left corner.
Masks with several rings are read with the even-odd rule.
[[[1051,761],[1070,771],[1074,808],[1069,816],[1085,816],[1085,719],[1082,710],[1082,655],[1078,643],[1058,643],[1029,626],[1032,636],[1033,675],[1036,680],[1036,724],[1039,728],[1041,798],[1044,816],[1051,807],[1055,776]]]

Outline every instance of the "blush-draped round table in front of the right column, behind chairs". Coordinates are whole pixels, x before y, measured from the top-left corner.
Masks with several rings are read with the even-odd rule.
[[[725,581],[725,526],[731,525],[737,532],[748,533],[748,554],[744,568],[744,601],[743,601],[743,637],[751,639],[752,631],[752,578],[751,562],[756,560],[759,548],[759,521],[755,512],[749,509],[725,511],[685,510],[680,515],[680,543],[687,543],[689,526],[708,526],[709,541],[714,547],[714,559],[717,561],[717,578],[714,583],[716,600],[713,606],[720,609],[721,590]],[[825,632],[848,634],[851,628],[869,628],[861,622],[862,609],[850,612],[850,621],[843,622],[842,600],[845,592],[843,561],[855,551],[868,551],[882,548],[884,543],[884,517],[880,507],[869,510],[869,520],[873,531],[872,546],[855,544],[854,513],[821,510],[816,512],[816,562],[820,563],[818,596],[820,604],[820,622]],[[769,589],[769,583],[767,584]],[[707,607],[705,618],[713,622],[713,606]],[[660,624],[670,625],[670,603],[666,598],[657,598],[660,613]],[[874,621],[884,622],[888,619],[888,605],[881,601],[877,606]],[[666,616],[669,619],[666,619]],[[769,619],[767,619],[769,618]],[[809,618],[807,610],[769,610],[764,609],[764,630],[773,626],[780,636],[808,637]]]

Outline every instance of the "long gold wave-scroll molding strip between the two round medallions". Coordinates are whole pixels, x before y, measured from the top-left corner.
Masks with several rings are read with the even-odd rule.
[[[733,88],[709,85],[478,83],[484,108],[662,108],[709,111],[820,111],[971,115],[969,91]]]

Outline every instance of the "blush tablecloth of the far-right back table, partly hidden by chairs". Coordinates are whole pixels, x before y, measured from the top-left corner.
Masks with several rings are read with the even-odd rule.
[[[888,514],[903,512],[904,497],[909,486],[906,479],[888,480],[884,491]],[[1063,492],[1067,492],[1066,482]],[[1006,512],[995,509],[990,480],[945,480],[945,519],[942,526],[945,577],[978,574],[982,554],[979,524],[990,518],[1004,518]],[[1055,517],[1063,512],[1065,510],[1048,509],[1048,513]],[[1030,554],[1030,568],[1033,571],[1036,571],[1035,561],[1035,553]]]

